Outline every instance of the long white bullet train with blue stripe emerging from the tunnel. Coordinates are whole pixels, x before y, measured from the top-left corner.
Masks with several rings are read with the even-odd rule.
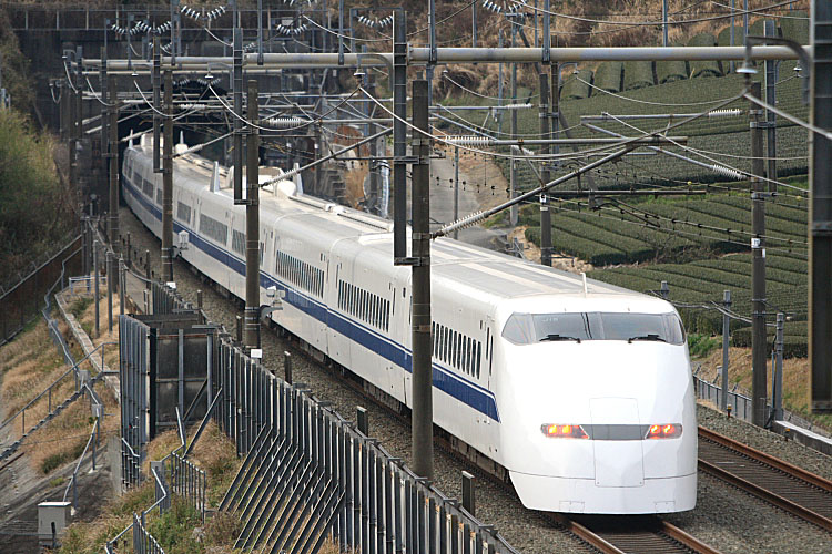
[[[126,150],[122,191],[161,236],[152,165],[145,134]],[[230,181],[179,157],[173,228],[187,263],[244,298],[245,206]],[[263,188],[260,206],[262,302],[285,291],[274,321],[409,407],[410,270],[393,265],[392,224],[290,182]],[[694,507],[693,384],[670,304],[449,238],[432,244],[432,273],[434,421],[453,444],[510,478],[529,509]]]

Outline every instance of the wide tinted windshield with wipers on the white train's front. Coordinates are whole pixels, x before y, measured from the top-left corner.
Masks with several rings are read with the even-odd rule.
[[[515,345],[582,340],[650,340],[682,345],[684,329],[676,314],[513,314],[506,321],[503,337]]]

